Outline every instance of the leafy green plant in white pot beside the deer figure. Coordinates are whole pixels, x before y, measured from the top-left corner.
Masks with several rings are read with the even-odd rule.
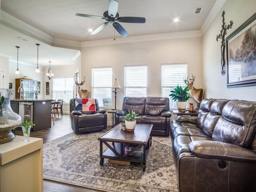
[[[171,87],[172,88],[172,87]],[[185,87],[184,89],[177,85],[176,88],[172,88],[170,91],[172,100],[177,101],[177,108],[179,111],[186,110],[187,107],[187,101],[189,100],[190,96],[188,93],[188,87]]]

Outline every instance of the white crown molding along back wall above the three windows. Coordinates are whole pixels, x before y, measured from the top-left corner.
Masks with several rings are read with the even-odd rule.
[[[178,39],[178,38],[190,38],[190,37],[200,37],[200,36],[202,36],[202,33],[200,30],[152,34],[152,35],[141,35],[141,36],[128,36],[126,38],[122,38],[122,37],[116,38],[116,40],[104,39],[104,40],[95,40],[95,41],[84,41],[84,42],[82,42],[82,47],[120,44],[120,43],[132,43],[132,42],[143,42],[143,41],[155,41],[155,40],[166,40],[166,39]]]

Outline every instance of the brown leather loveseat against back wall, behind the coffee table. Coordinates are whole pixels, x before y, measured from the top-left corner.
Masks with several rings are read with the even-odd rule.
[[[128,110],[138,115],[137,124],[153,124],[152,135],[169,136],[170,101],[167,97],[124,97],[122,110],[116,112],[116,124],[123,122]]]

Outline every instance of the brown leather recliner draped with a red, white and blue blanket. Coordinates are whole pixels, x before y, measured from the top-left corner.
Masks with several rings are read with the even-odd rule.
[[[106,110],[99,109],[97,99],[95,99],[96,111],[76,110],[75,99],[76,98],[70,100],[71,128],[75,133],[80,134],[107,128]]]

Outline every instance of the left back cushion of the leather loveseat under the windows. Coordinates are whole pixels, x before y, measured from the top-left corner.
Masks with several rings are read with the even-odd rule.
[[[123,110],[133,110],[136,114],[144,115],[145,113],[145,97],[124,97]]]

